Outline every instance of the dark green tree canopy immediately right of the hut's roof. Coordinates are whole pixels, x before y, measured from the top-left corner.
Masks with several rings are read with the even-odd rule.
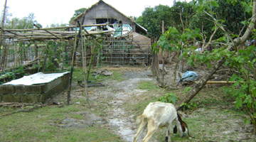
[[[167,31],[170,26],[183,31],[189,26],[193,14],[196,13],[194,3],[194,1],[189,3],[178,1],[174,2],[174,6],[171,7],[159,5],[146,8],[136,22],[144,26],[156,38],[159,38],[162,33],[162,21],[164,21],[164,31]]]

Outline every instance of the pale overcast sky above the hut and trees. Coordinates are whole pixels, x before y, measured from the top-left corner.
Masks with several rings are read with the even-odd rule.
[[[0,10],[3,11],[6,0],[0,0]],[[68,23],[75,13],[75,10],[81,8],[90,8],[99,0],[7,0],[9,13],[11,18],[23,18],[29,13],[34,13],[35,20],[40,23],[43,28],[50,27],[50,24]],[[115,9],[124,13],[126,16],[142,16],[142,12],[146,7],[154,7],[161,5],[172,6],[174,0],[103,0]]]

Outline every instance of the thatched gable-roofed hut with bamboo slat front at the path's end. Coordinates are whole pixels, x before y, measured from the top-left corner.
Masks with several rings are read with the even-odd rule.
[[[71,25],[77,22],[86,27],[87,31],[112,31],[110,38],[105,40],[102,49],[105,64],[111,65],[148,65],[151,40],[146,28],[135,23],[133,18],[125,16],[105,1],[98,1],[89,9],[74,18]],[[97,26],[107,24],[106,26]],[[142,34],[140,34],[142,33]]]

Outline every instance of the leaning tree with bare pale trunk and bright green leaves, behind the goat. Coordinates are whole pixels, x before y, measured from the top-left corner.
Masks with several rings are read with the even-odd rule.
[[[186,97],[183,97],[181,101],[178,101],[175,106],[176,109],[180,109],[183,104],[188,102],[196,96],[198,92],[205,86],[206,82],[210,80],[210,77],[218,70],[222,65],[232,67],[235,72],[230,78],[231,81],[236,81],[233,87],[227,87],[226,92],[232,94],[235,99],[235,107],[247,112],[250,119],[245,119],[245,122],[252,122],[254,126],[253,133],[256,134],[256,49],[254,46],[248,48],[239,48],[239,45],[245,43],[250,38],[252,32],[255,32],[254,26],[256,23],[256,1],[250,3],[248,1],[235,1],[231,0],[230,3],[234,6],[242,4],[242,6],[252,6],[251,18],[246,19],[247,22],[238,21],[239,24],[243,24],[243,28],[240,31],[233,31],[233,27],[226,26],[223,19],[215,16],[213,8],[218,8],[217,1],[198,1],[198,13],[207,15],[208,19],[213,22],[213,26],[210,27],[214,31],[220,31],[223,35],[220,38],[216,38],[215,42],[221,44],[220,48],[213,49],[212,53],[206,51],[204,53],[193,53],[196,49],[195,46],[188,48],[188,41],[201,38],[200,28],[189,29],[180,32],[175,27],[170,27],[169,31],[166,31],[161,37],[157,45],[161,48],[169,51],[183,51],[183,57],[186,58],[189,65],[196,65],[196,63],[204,63],[208,65],[208,71],[203,77],[186,93]],[[253,4],[253,5],[252,5]],[[232,12],[232,11],[230,11]],[[232,14],[232,13],[229,13]],[[231,28],[231,29],[229,29]],[[243,30],[244,29],[244,30]],[[238,33],[239,32],[239,33]],[[181,44],[183,43],[183,44]],[[156,45],[154,45],[156,47]],[[188,54],[188,52],[191,52]]]

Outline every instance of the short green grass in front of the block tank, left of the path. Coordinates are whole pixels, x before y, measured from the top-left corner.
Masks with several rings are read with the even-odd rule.
[[[8,111],[5,107],[3,111]],[[43,107],[31,112],[18,112],[1,116],[0,141],[95,141],[117,136],[108,129],[97,126],[84,129],[61,129],[54,124],[67,116],[82,119],[71,111],[86,111],[86,107],[69,105],[65,107]],[[1,111],[0,114],[4,114]],[[10,111],[10,109],[9,109]],[[99,135],[99,133],[104,133]],[[113,140],[118,141],[118,138]]]

